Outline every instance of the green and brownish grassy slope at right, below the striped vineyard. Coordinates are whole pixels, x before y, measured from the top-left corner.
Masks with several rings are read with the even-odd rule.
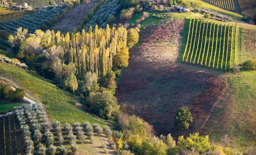
[[[256,72],[241,72],[229,78],[226,95],[216,105],[201,131],[219,142],[224,134],[232,138],[232,146],[245,151],[256,141]]]

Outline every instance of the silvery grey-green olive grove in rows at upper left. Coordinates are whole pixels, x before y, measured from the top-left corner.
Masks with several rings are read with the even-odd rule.
[[[29,32],[34,32],[36,29],[40,28],[46,20],[51,19],[54,17],[54,14],[60,12],[61,8],[55,7],[47,7],[42,8],[35,14],[29,14],[20,18],[19,20],[11,20],[0,23],[0,29],[15,33],[17,28],[23,27],[24,29],[28,29]]]

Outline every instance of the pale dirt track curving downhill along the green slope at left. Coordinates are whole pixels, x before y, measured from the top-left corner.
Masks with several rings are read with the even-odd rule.
[[[0,75],[0,79],[9,81],[10,83],[12,83],[12,85],[15,88],[23,88],[23,86],[21,86],[20,83],[17,83],[17,81],[15,81],[15,80],[13,80],[11,78],[6,78],[6,77],[3,77],[3,76]],[[33,99],[37,100],[41,104],[41,106],[44,109],[44,112],[46,112],[47,122],[52,126],[52,123],[53,123],[52,118],[50,117],[50,115],[49,115],[45,105],[40,102],[40,99],[37,96],[33,95],[31,92],[27,91],[27,90],[26,90],[26,96],[28,96],[29,98],[33,98]],[[28,101],[31,103],[30,100],[28,100]]]

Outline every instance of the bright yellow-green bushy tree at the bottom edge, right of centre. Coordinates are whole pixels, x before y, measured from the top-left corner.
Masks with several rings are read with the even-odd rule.
[[[190,134],[184,139],[184,136],[178,138],[178,146],[185,150],[192,150],[195,148],[200,153],[207,152],[210,149],[209,136],[199,136],[199,133]]]

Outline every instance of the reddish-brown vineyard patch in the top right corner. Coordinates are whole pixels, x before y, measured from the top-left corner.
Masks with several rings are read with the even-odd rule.
[[[238,0],[242,14],[249,17],[256,15],[256,0]]]

